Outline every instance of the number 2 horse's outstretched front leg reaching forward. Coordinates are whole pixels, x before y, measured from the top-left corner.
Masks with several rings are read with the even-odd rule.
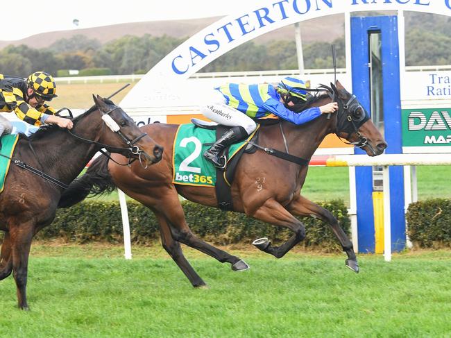
[[[312,201],[309,201],[303,196],[298,196],[289,205],[287,205],[287,210],[292,214],[300,217],[312,216],[318,217],[321,221],[324,221],[330,225],[332,231],[337,236],[340,241],[343,251],[348,255],[346,260],[346,266],[352,271],[359,272],[359,264],[357,263],[357,257],[355,256],[354,247],[352,242],[343,231],[341,226],[339,226],[338,220],[334,217],[332,212],[329,210],[316,205]]]

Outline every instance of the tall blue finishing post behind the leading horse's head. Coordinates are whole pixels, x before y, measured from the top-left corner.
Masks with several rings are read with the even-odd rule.
[[[385,153],[402,153],[400,69],[398,45],[398,18],[352,17],[352,92],[371,112],[368,36],[380,32],[382,37],[382,81],[384,135],[389,144]],[[365,153],[356,149],[355,153]],[[357,232],[359,252],[374,252],[375,229],[373,217],[373,173],[371,167],[356,167]],[[405,248],[404,174],[402,167],[390,168],[391,249]]]

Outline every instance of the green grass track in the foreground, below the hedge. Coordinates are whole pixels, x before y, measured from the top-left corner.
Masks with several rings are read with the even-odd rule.
[[[451,251],[359,255],[251,251],[231,271],[185,253],[209,288],[194,289],[159,245],[34,246],[28,301],[17,310],[12,278],[0,283],[2,337],[449,337]]]

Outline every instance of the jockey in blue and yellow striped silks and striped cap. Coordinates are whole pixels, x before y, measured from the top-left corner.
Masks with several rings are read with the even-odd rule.
[[[269,83],[246,85],[226,83],[214,88],[210,103],[201,107],[202,114],[212,121],[231,126],[203,156],[223,168],[226,163],[219,154],[226,146],[244,140],[250,135],[257,124],[253,119],[268,115],[276,115],[293,124],[305,124],[321,114],[338,110],[336,102],[327,103],[321,107],[304,109],[307,100],[305,83],[296,76],[284,78],[278,87]]]

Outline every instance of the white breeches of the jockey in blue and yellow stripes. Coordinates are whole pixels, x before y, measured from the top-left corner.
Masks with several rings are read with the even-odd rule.
[[[241,126],[248,134],[257,128],[255,121],[248,115],[227,105],[226,98],[219,90],[212,90],[212,92],[207,93],[205,98],[207,101],[201,105],[201,113],[208,119],[224,126]]]

